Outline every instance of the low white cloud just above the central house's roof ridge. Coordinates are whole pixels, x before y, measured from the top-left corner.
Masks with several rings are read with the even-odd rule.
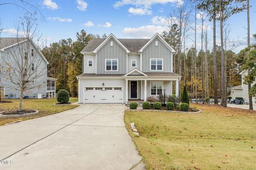
[[[161,25],[146,25],[137,28],[126,27],[123,34],[131,38],[151,38],[156,32],[162,33],[164,30],[167,30],[166,27]]]

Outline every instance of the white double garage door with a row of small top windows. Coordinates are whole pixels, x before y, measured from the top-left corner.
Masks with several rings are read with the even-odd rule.
[[[84,87],[84,103],[123,103],[123,88]]]

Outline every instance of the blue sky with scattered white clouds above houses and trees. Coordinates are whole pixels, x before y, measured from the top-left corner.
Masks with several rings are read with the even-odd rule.
[[[87,33],[102,36],[113,33],[117,38],[151,38],[156,32],[167,29],[166,22],[177,6],[187,0],[28,0],[38,7],[44,20],[38,15],[38,32],[42,42],[49,45],[60,39],[76,39],[76,32],[84,29]],[[1,0],[17,2],[15,0]],[[256,33],[256,1],[251,1],[251,34]],[[28,8],[28,7],[27,7]],[[193,11],[194,12],[194,11]],[[2,37],[15,37],[16,26],[25,13],[14,5],[0,5],[0,19],[4,29]],[[190,13],[190,23],[194,25],[194,13]],[[198,28],[201,19],[197,12]],[[212,23],[206,19],[208,36],[212,44]],[[239,45],[235,52],[246,47],[247,20],[246,12],[231,16],[229,25],[229,47],[233,42]],[[217,23],[217,44],[219,44],[219,23]],[[197,46],[201,48],[200,31],[197,33]],[[192,46],[193,31],[188,31],[187,47]],[[47,40],[47,41],[45,41]],[[212,48],[211,45],[209,48]]]

